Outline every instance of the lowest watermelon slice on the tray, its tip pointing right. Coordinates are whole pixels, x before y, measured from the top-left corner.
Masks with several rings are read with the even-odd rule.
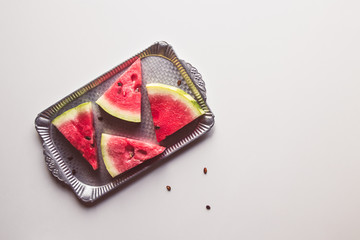
[[[103,133],[101,152],[106,169],[112,177],[161,154],[164,147],[130,138]]]

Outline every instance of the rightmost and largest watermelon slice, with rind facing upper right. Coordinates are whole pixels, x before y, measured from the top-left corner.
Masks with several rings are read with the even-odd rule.
[[[151,83],[146,88],[158,142],[205,113],[193,97],[177,87]]]

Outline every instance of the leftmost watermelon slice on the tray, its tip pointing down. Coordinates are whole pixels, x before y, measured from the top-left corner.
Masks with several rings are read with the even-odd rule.
[[[64,112],[57,116],[52,124],[96,170],[98,161],[91,102],[80,104]]]

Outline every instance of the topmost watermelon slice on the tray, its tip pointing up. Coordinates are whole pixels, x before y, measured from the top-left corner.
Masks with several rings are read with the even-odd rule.
[[[141,121],[141,62],[137,59],[96,101],[114,117]]]

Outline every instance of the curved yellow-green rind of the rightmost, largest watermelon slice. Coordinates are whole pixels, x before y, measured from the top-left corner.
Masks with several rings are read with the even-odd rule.
[[[149,83],[146,85],[146,88],[148,91],[148,95],[163,94],[175,97],[182,103],[186,104],[192,110],[192,113],[196,117],[199,117],[205,113],[205,111],[200,107],[198,102],[190,94],[186,93],[180,88],[162,83]]]

